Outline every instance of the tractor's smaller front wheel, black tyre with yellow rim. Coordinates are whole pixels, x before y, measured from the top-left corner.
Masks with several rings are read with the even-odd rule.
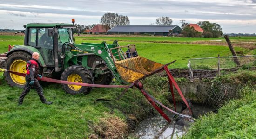
[[[92,83],[92,74],[89,70],[79,65],[68,67],[61,74],[61,80],[69,82]],[[66,93],[76,95],[79,93],[88,94],[92,87],[63,84]]]

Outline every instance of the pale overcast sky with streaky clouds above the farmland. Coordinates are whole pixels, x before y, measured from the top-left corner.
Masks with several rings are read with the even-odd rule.
[[[127,15],[131,25],[149,25],[168,16],[180,20],[208,20],[225,33],[256,33],[256,0],[0,0],[0,28],[22,29],[27,23],[100,24],[106,12]]]

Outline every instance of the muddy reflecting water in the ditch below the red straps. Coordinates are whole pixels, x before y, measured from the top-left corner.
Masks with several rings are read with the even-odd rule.
[[[177,111],[180,112],[182,105],[177,105]],[[193,106],[192,107],[194,118],[198,118],[199,115],[206,114],[213,109],[210,107],[202,107],[202,106]],[[175,124],[175,119],[173,118],[173,113],[166,114],[171,118],[172,122],[170,124],[162,118],[162,116],[157,116],[153,118],[146,119],[142,121],[135,132],[132,133],[132,136],[138,139],[177,139],[177,137],[181,137],[188,127],[182,127]]]

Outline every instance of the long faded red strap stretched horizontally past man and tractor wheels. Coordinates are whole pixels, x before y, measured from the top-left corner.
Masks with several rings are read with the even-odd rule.
[[[7,70],[8,71],[8,70]],[[18,75],[18,76],[23,76],[25,77],[25,73],[19,73],[19,72],[14,72],[14,71],[8,71],[12,74]],[[54,83],[61,83],[61,84],[70,84],[70,85],[80,85],[80,86],[87,86],[87,87],[98,87],[98,88],[128,88],[127,85],[102,85],[102,84],[90,84],[90,83],[79,83],[79,82],[68,82],[68,81],[62,81],[62,80],[57,80],[57,79],[52,79],[52,78],[47,78],[47,77],[42,77],[39,78],[37,77],[38,80],[40,81],[46,81],[46,82],[54,82]]]

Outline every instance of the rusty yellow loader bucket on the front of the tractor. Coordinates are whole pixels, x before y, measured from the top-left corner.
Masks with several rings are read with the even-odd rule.
[[[123,52],[121,48],[124,47],[127,47],[128,51]],[[161,63],[138,56],[135,45],[115,47],[110,50],[117,71],[126,82],[135,82],[164,66]]]

